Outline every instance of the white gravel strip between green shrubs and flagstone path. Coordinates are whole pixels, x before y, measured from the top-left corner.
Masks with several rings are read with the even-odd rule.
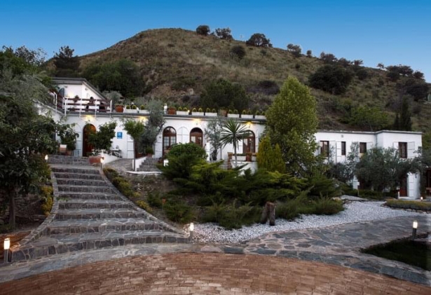
[[[322,228],[338,224],[350,224],[360,221],[372,221],[393,217],[414,216],[421,213],[394,210],[383,207],[384,202],[352,202],[344,205],[344,211],[334,215],[302,215],[294,221],[277,219],[275,226],[254,224],[242,226],[238,230],[226,231],[217,224],[196,224],[193,240],[196,242],[245,242],[265,233],[294,231],[303,228]]]

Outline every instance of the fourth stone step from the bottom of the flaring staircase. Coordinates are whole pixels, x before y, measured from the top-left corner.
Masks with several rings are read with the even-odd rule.
[[[60,200],[58,209],[134,209],[130,202],[120,200]]]

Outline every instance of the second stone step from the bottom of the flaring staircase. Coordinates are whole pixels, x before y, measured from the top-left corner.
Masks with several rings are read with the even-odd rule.
[[[149,219],[77,219],[65,221],[55,220],[48,224],[44,235],[155,230],[163,230],[163,227]]]

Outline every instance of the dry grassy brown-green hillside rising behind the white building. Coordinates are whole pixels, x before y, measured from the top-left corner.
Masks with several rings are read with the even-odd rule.
[[[231,57],[233,46],[242,45],[246,55],[242,60]],[[303,48],[306,51],[308,48]],[[313,49],[313,48],[310,48]],[[313,53],[320,55],[320,53]],[[274,81],[279,86],[287,76],[296,76],[308,83],[308,76],[324,63],[317,57],[294,57],[280,48],[246,46],[243,41],[226,41],[215,36],[201,36],[184,29],[151,29],[114,46],[80,57],[81,69],[91,62],[112,62],[121,58],[135,62],[142,73],[147,97],[158,97],[167,102],[193,105],[205,85],[217,78],[242,84],[252,97],[252,106],[265,108],[273,95],[259,88],[261,81]],[[359,60],[361,57],[357,57]],[[355,76],[343,95],[331,95],[311,88],[318,102],[320,128],[346,129],[342,123],[340,106],[346,104],[378,107],[387,112],[389,123],[395,118],[399,105],[396,83],[386,77],[386,71],[366,68],[369,78]],[[193,100],[194,97],[194,100]],[[410,100],[413,130],[431,133],[429,123],[431,105]],[[341,108],[342,109],[342,108]]]

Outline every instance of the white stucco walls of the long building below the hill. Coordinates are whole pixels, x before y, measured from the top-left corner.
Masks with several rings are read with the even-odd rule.
[[[90,88],[85,90],[85,84],[81,85],[67,85],[67,89],[70,90],[69,95],[88,95],[88,97],[97,95],[96,92],[90,92]],[[60,84],[61,87],[61,84]],[[81,93],[81,95],[79,94]],[[39,106],[39,111],[43,114],[48,114],[43,106]],[[55,109],[50,109],[50,115],[53,116],[55,121],[60,121],[63,118],[63,114]],[[64,118],[65,123],[75,123],[75,131],[78,132],[78,139],[76,142],[75,156],[83,155],[83,128],[86,124],[90,123],[95,125],[98,130],[99,126],[108,123],[109,121],[116,121],[116,137],[112,140],[112,148],[121,150],[123,158],[133,158],[133,140],[123,130],[123,123],[121,120],[124,118],[134,118],[135,120],[146,122],[147,114],[124,114],[124,113],[96,113],[96,114],[69,114]],[[165,125],[163,127],[172,127],[177,133],[177,143],[188,143],[190,142],[190,132],[193,128],[200,128],[203,132],[203,147],[210,154],[210,142],[205,136],[205,128],[210,120],[210,117],[205,116],[165,116]],[[265,125],[263,121],[254,119],[238,119],[243,125],[247,127],[247,130],[251,130],[255,135],[255,149],[258,151],[259,139],[261,134],[264,132]],[[160,158],[163,155],[163,129],[157,137],[155,145],[154,157]],[[121,136],[122,135],[122,136]],[[416,151],[422,146],[422,136],[420,132],[397,132],[397,131],[379,131],[379,132],[352,132],[352,131],[337,131],[337,130],[319,130],[315,134],[315,140],[317,144],[321,141],[329,142],[329,149],[331,151],[332,160],[334,163],[340,163],[346,160],[346,156],[350,153],[351,145],[354,142],[367,143],[367,150],[374,146],[380,146],[383,148],[393,147],[398,149],[398,142],[406,142],[408,146],[408,158],[416,157]],[[346,155],[341,155],[341,142],[346,142]],[[233,152],[232,144],[224,146],[221,153],[218,155],[218,159],[227,160],[228,152]],[[319,153],[320,149],[317,149],[316,153]],[[242,141],[238,146],[237,153],[242,153]],[[420,197],[420,176],[418,174],[409,174],[407,177],[407,187],[409,198]]]

